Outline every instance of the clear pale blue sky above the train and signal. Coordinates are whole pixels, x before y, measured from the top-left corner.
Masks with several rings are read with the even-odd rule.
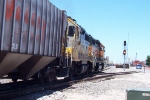
[[[128,57],[144,61],[150,55],[150,0],[50,0],[77,20],[105,45],[105,56],[123,62],[123,41]],[[129,37],[129,42],[128,42]]]

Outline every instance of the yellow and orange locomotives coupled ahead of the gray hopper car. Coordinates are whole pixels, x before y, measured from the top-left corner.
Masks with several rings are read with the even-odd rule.
[[[76,20],[71,17],[67,19],[66,50],[62,51],[65,52],[66,66],[70,67],[70,74],[80,75],[102,70],[100,41],[89,35]]]

